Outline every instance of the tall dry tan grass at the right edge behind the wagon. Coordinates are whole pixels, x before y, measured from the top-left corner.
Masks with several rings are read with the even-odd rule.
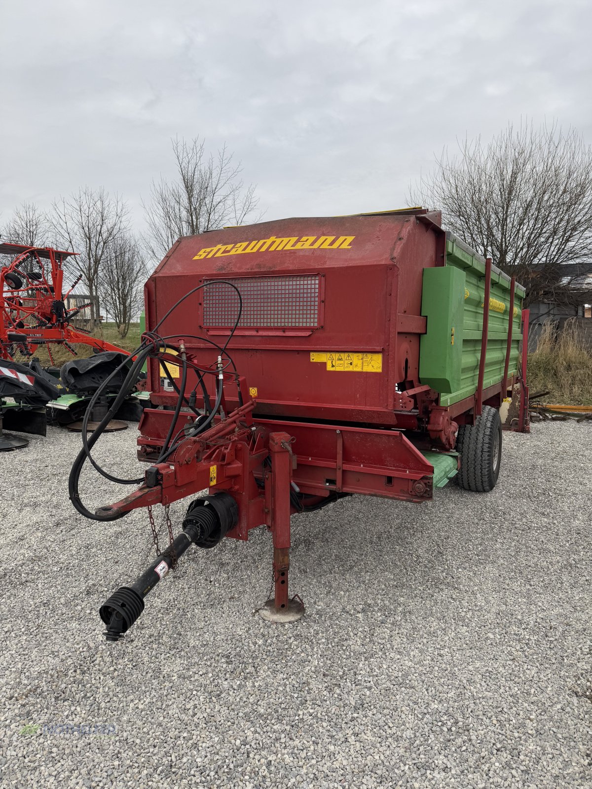
[[[592,350],[574,321],[556,335],[545,323],[537,350],[528,356],[530,392],[549,391],[543,402],[592,406]]]

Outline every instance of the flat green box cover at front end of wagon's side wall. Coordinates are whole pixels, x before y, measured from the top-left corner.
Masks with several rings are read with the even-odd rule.
[[[420,340],[419,377],[438,392],[458,391],[463,373],[463,312],[465,275],[453,266],[423,271],[422,315],[427,316]]]

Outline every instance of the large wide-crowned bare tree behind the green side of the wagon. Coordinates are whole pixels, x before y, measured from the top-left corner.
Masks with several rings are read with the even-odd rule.
[[[592,260],[592,151],[575,131],[508,125],[464,140],[410,189],[445,226],[526,286],[527,303],[573,303]],[[569,264],[569,265],[568,265]]]

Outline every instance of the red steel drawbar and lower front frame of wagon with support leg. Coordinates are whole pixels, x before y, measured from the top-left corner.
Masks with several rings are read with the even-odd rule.
[[[165,361],[175,358],[163,356]],[[289,600],[290,515],[298,511],[290,504],[293,482],[313,497],[313,503],[332,492],[370,493],[414,502],[431,498],[433,467],[403,433],[253,419],[255,403],[245,379],[237,381],[227,375],[225,386],[237,386],[245,405],[203,435],[186,439],[167,462],[155,466],[157,484],[144,483],[125,499],[101,507],[97,514],[167,505],[204,488],[211,493],[230,493],[237,500],[239,519],[228,537],[246,540],[249,530],[260,525],[267,525],[272,532],[275,610],[282,611]],[[158,457],[170,419],[170,412],[144,410],[139,458],[149,461]],[[193,424],[193,417],[181,413],[174,432],[189,424]],[[292,452],[293,442],[300,445],[298,459]],[[337,447],[335,461],[330,458],[333,446]],[[311,453],[308,458],[307,452]],[[264,465],[266,458],[271,468]],[[212,469],[215,484],[211,484]]]

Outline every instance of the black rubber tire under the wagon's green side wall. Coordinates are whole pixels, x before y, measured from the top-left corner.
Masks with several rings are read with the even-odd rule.
[[[466,491],[486,493],[496,486],[501,466],[500,412],[483,406],[475,424],[463,424],[456,437],[460,469],[456,479]]]

